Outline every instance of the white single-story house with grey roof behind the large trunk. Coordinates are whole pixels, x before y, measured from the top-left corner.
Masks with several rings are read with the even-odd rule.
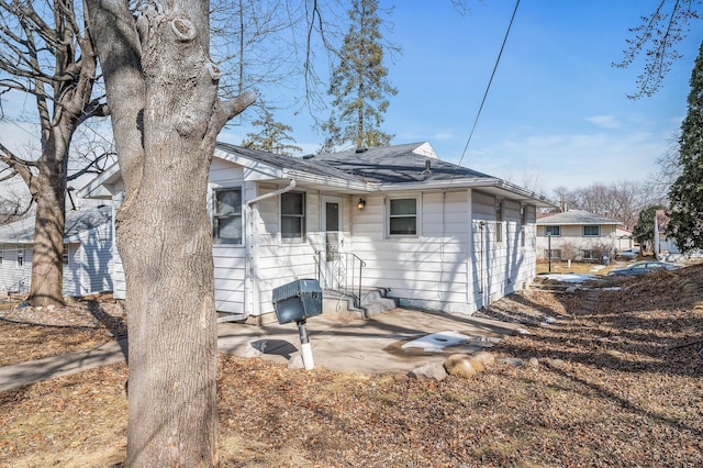
[[[302,158],[217,144],[210,168],[215,300],[242,320],[275,287],[382,289],[401,305],[472,313],[535,276],[535,213],[553,204],[438,159],[428,143]],[[119,204],[113,166],[81,196]],[[124,297],[115,259],[115,297]],[[332,294],[331,294],[332,296]],[[326,297],[326,294],[325,294]]]

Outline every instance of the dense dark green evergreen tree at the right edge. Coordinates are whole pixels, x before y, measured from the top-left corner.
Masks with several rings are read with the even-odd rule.
[[[681,175],[669,191],[667,230],[683,253],[703,248],[703,44],[691,74],[688,103],[679,140]]]

